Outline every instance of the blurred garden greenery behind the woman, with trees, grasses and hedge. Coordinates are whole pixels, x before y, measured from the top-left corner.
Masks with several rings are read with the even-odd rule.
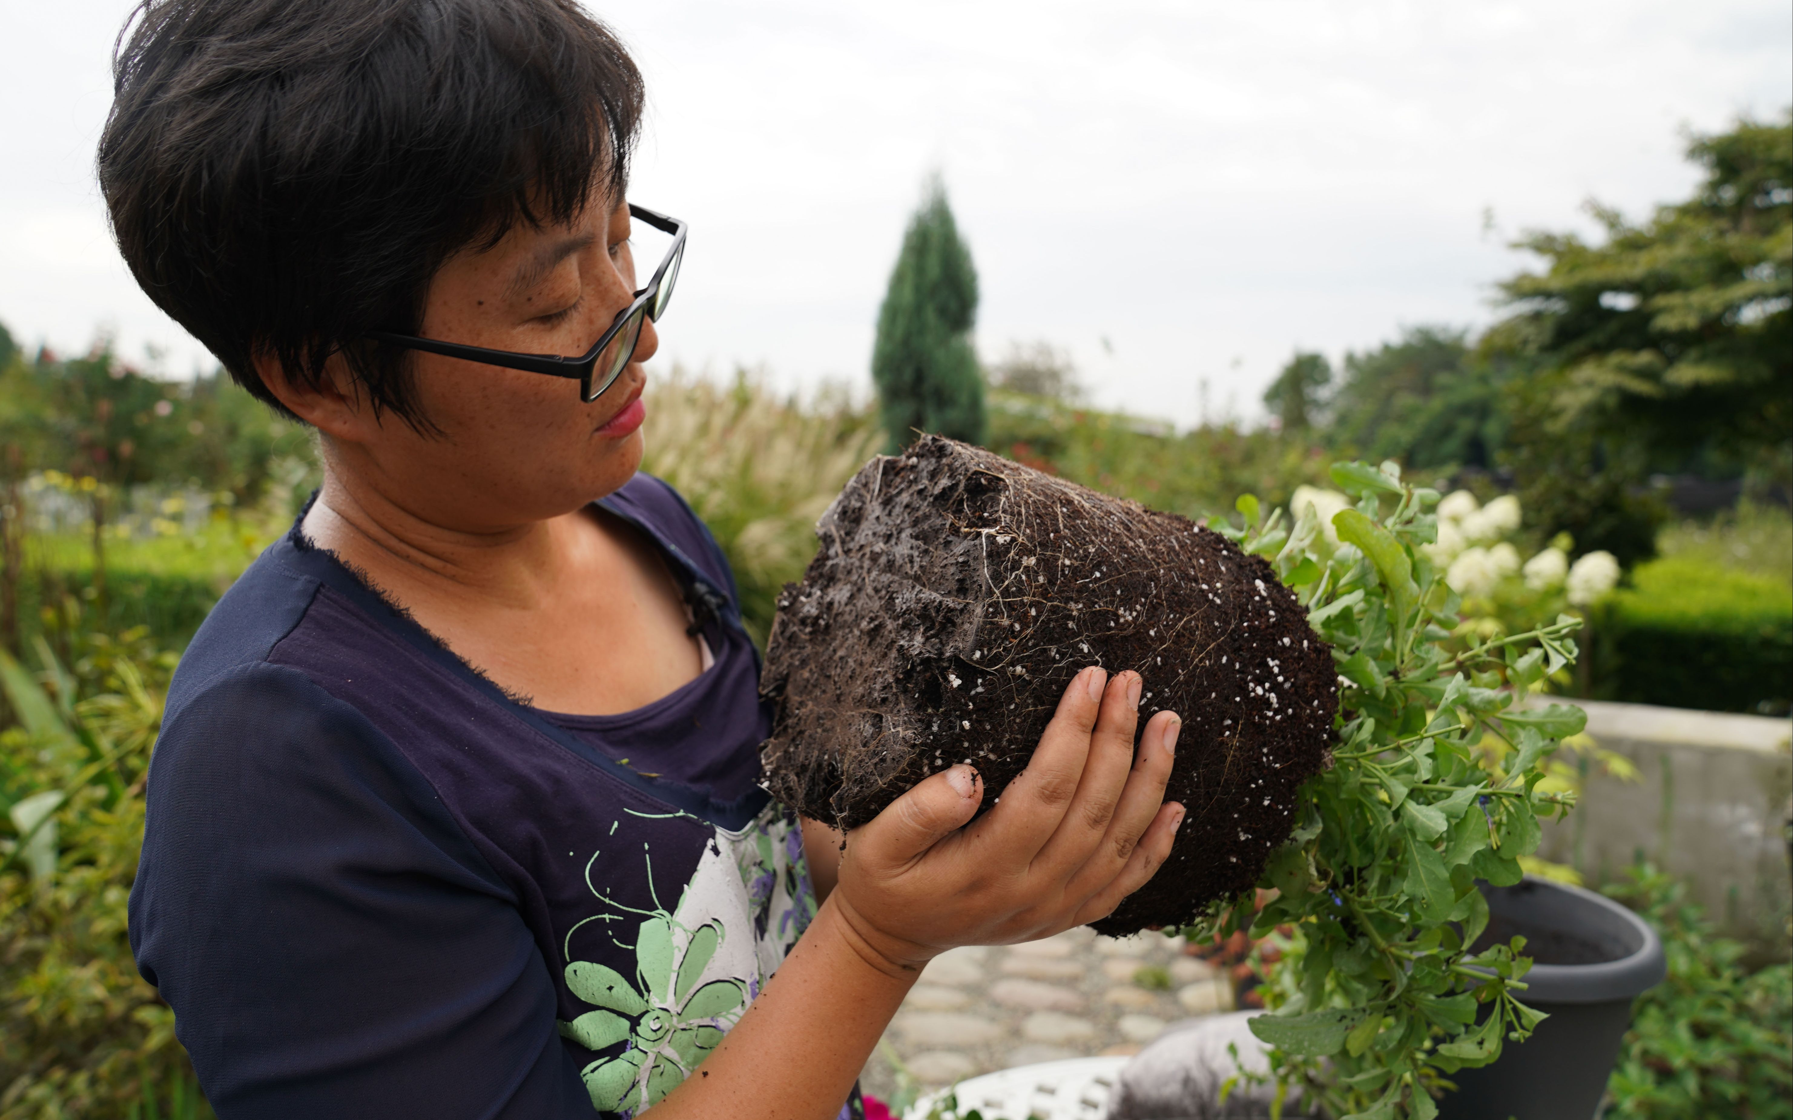
[[[710,523],[764,642],[816,516],[914,430],[1192,520],[1234,518],[1248,493],[1330,513],[1330,462],[1391,459],[1449,495],[1434,559],[1465,642],[1569,611],[1587,658],[1553,681],[1563,695],[1784,717],[1793,118],[1693,136],[1687,159],[1689,197],[1594,204],[1596,237],[1522,235],[1531,263],[1499,283],[1492,324],[1416,324],[1343,360],[1291,344],[1262,421],[1196,425],[1097,409],[1049,337],[979,353],[977,265],[934,181],[879,314],[877,396],[674,367],[649,389],[645,470]],[[165,380],[106,339],[57,355],[7,326],[0,1118],[201,1115],[126,943],[143,780],[181,649],[290,527],[317,455],[222,373]],[[1637,882],[1676,973],[1639,1020],[1617,1115],[1789,1115],[1786,944],[1718,939],[1673,882]],[[1779,1086],[1779,1104],[1739,1084]]]

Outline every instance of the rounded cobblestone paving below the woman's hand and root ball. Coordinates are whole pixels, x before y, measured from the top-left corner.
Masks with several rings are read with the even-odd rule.
[[[1225,977],[1160,934],[1097,937],[1087,928],[1006,948],[938,957],[909,991],[884,1043],[923,1086],[1060,1057],[1137,1054],[1169,1021],[1230,1011]],[[888,1097],[889,1061],[861,1082]]]

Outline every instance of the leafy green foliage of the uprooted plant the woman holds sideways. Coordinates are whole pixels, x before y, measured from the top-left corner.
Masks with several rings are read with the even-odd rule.
[[[1332,480],[1357,505],[1332,518],[1330,556],[1312,507],[1287,525],[1246,496],[1246,525],[1226,532],[1271,557],[1332,643],[1348,681],[1334,765],[1304,787],[1269,860],[1260,887],[1275,896],[1243,896],[1187,935],[1275,935],[1273,1014],[1252,1030],[1278,1082],[1334,1116],[1431,1120],[1452,1072],[1540,1020],[1519,1000],[1522,939],[1470,952],[1488,925],[1476,880],[1519,882],[1540,817],[1572,805],[1538,783],[1583,713],[1517,702],[1572,663],[1580,620],[1454,645],[1460,600],[1424,552],[1438,493],[1391,462],[1336,464]]]

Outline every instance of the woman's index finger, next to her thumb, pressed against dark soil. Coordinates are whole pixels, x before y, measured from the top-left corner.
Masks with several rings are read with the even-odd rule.
[[[984,815],[977,835],[1000,858],[1027,866],[1058,830],[1083,780],[1106,683],[1108,674],[1094,665],[1070,679],[1027,769],[1008,783],[1002,801]]]

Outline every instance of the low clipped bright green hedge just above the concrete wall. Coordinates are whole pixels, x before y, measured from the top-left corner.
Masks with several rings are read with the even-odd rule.
[[[1639,566],[1594,622],[1594,692],[1614,701],[1786,711],[1793,586],[1694,556]]]

